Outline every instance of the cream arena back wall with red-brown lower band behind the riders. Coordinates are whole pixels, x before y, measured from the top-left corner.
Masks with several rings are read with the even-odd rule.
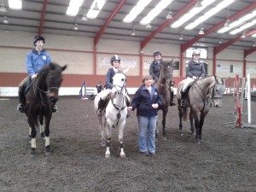
[[[0,96],[17,96],[17,86],[26,77],[26,54],[33,48],[32,40],[35,34],[25,32],[0,32]],[[67,65],[61,94],[78,95],[81,84],[86,81],[88,87],[95,89],[99,81],[105,81],[105,74],[110,67],[109,58],[117,54],[123,60],[121,67],[129,68],[127,87],[133,92],[141,84],[143,75],[148,74],[148,68],[153,61],[152,53],[159,49],[163,59],[180,61],[180,48],[173,44],[148,44],[143,51],[139,42],[100,39],[94,50],[93,38],[70,37],[42,34],[46,40],[44,46],[52,60],[60,65]],[[96,61],[94,59],[96,51]],[[141,63],[143,54],[143,65]],[[208,49],[208,75],[213,73],[213,49]],[[185,78],[185,63],[191,58],[183,58],[183,75],[179,69],[174,70],[176,85]],[[235,79],[235,75],[243,76],[243,51],[224,49],[217,55],[217,72],[219,77]],[[252,86],[256,84],[256,53],[248,55],[247,67],[251,73]],[[233,70],[231,72],[230,70]],[[230,83],[229,83],[230,84]]]

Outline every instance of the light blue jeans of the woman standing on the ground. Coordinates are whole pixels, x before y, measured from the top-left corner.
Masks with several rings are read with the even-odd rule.
[[[155,153],[155,129],[157,116],[137,116],[138,146],[140,152]]]

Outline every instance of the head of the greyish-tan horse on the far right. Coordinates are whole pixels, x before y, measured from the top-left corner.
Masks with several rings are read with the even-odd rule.
[[[218,77],[215,77],[215,83],[212,86],[211,90],[212,90],[213,106],[216,108],[221,107],[222,106],[222,96],[225,91],[224,79],[219,79]]]

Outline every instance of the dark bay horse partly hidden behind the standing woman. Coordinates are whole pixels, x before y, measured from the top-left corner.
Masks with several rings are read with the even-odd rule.
[[[173,59],[172,59],[173,61]],[[163,112],[162,119],[162,136],[166,139],[166,114],[168,113],[169,105],[171,102],[171,93],[170,93],[170,84],[173,82],[173,68],[172,61],[164,61],[160,67],[158,81],[155,86],[160,93],[162,105],[160,106],[160,110]],[[156,131],[157,137],[157,131]]]

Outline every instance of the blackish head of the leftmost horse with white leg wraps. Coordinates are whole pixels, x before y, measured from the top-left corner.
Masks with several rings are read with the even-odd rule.
[[[47,75],[47,86],[49,89],[49,101],[56,102],[59,96],[59,88],[62,82],[62,72],[67,68],[67,65],[64,67],[59,66],[56,63],[49,63],[49,73]]]

